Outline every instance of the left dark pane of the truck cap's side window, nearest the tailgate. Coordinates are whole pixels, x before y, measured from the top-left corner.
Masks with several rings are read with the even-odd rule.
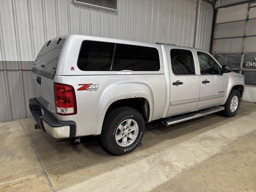
[[[83,41],[77,66],[83,71],[109,71],[114,43]]]

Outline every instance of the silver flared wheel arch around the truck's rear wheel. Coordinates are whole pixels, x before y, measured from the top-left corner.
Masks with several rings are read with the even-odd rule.
[[[129,98],[145,98],[149,104],[149,119],[151,121],[154,110],[154,97],[150,87],[141,82],[116,82],[109,85],[102,92],[100,102],[98,103],[97,122],[94,128],[94,134],[101,133],[104,117],[109,106],[117,100]]]

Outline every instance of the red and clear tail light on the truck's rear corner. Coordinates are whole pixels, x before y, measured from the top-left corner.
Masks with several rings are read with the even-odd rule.
[[[54,97],[57,114],[76,114],[76,94],[73,86],[62,83],[54,83]]]

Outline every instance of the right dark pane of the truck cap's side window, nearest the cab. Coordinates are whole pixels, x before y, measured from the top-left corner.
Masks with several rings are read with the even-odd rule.
[[[160,61],[156,48],[116,44],[112,71],[159,71]]]

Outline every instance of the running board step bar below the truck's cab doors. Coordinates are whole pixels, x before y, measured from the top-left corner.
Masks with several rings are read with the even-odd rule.
[[[221,107],[221,106],[212,107],[212,108],[202,110],[202,111],[198,111],[198,112],[195,112],[195,113],[192,113],[192,114],[188,114],[188,115],[184,115],[184,116],[164,120],[164,121],[162,121],[162,123],[164,123],[166,126],[168,126],[168,125],[176,124],[176,123],[183,122],[183,121],[186,121],[186,120],[202,117],[202,116],[212,114],[212,113],[215,113],[215,112],[218,112],[218,111],[222,111],[224,109],[225,108]]]

